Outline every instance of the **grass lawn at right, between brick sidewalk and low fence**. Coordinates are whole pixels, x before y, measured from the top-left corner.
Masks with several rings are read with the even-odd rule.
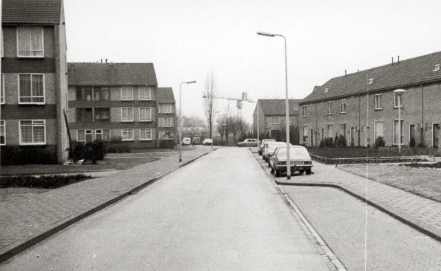
[[[341,165],[339,169],[366,177],[366,165]],[[441,202],[440,169],[412,168],[398,164],[369,164],[368,178]]]

